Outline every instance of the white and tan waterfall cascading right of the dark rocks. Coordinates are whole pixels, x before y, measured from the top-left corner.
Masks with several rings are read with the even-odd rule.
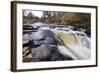
[[[72,29],[65,31],[62,29],[58,30],[56,28],[51,29],[47,27],[41,27],[39,28],[39,30],[52,30],[57,36],[59,36],[59,32],[63,33],[63,36],[59,37],[63,41],[66,41],[64,42],[64,44],[58,46],[59,52],[61,52],[62,54],[70,55],[76,60],[86,60],[91,58],[91,38],[88,37],[83,31],[73,31]],[[38,35],[38,33],[33,34],[33,36],[34,35]],[[41,35],[38,35],[38,37],[40,36]],[[66,37],[67,39],[65,39]]]

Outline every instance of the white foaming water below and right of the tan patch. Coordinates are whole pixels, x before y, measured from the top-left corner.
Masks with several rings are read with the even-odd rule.
[[[57,31],[58,32],[58,31]],[[60,31],[61,32],[61,31]],[[77,60],[85,60],[91,58],[91,45],[90,38],[86,36],[84,32],[80,31],[62,31],[64,34],[73,34],[70,37],[74,36],[74,41],[70,39],[70,41],[74,41],[75,44],[64,43],[65,45],[59,46],[59,51],[64,55],[70,55],[72,58]],[[77,35],[78,34],[78,35]]]

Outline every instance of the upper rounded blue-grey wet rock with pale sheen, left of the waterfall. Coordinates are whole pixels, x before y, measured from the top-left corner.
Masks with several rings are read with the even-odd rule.
[[[31,34],[31,39],[34,42],[33,45],[40,45],[42,43],[57,45],[57,39],[55,38],[55,34],[50,30],[33,32]]]

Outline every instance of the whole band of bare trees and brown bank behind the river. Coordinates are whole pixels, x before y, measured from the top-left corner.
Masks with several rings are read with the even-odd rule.
[[[85,28],[90,32],[91,15],[89,13],[72,13],[58,11],[43,11],[41,18],[35,16],[31,11],[27,14],[23,10],[23,23],[42,22],[47,24],[72,25],[77,28]]]

